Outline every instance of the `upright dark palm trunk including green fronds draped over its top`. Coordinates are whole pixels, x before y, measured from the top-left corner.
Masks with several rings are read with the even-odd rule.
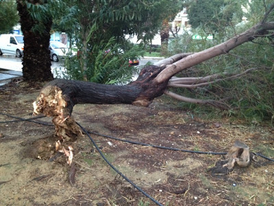
[[[53,80],[49,57],[52,5],[41,0],[16,2],[24,35],[23,78],[31,82]]]

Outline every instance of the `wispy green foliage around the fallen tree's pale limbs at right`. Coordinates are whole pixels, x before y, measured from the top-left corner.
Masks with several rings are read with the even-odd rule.
[[[226,27],[221,33],[216,33],[213,40],[192,39],[193,34],[199,34],[206,37],[207,32],[201,27],[193,29],[191,32],[185,32],[181,38],[175,39],[170,47],[170,55],[180,52],[200,52],[223,41],[231,38],[235,34],[240,34],[247,30],[253,22],[258,23],[264,12],[270,5],[270,1],[252,1],[249,12],[256,14],[251,15],[245,13],[245,16],[259,19],[251,19],[247,23],[234,23],[235,27]],[[269,4],[267,4],[269,3]],[[266,6],[266,8],[265,8]],[[269,17],[269,21],[274,19],[273,15]],[[248,19],[249,20],[249,19]],[[195,115],[208,113],[211,115],[229,115],[241,119],[246,119],[249,122],[263,122],[265,120],[274,123],[274,62],[273,62],[273,38],[266,36],[264,38],[256,38],[253,42],[245,43],[236,47],[227,55],[217,56],[202,62],[201,64],[187,69],[178,76],[208,76],[214,73],[227,72],[231,76],[242,73],[250,69],[249,72],[238,78],[223,80],[216,84],[210,84],[208,87],[197,89],[175,89],[176,93],[190,97],[200,98],[203,100],[222,100],[225,99],[230,106],[230,110],[219,113],[214,108],[208,106],[199,106],[190,103],[177,103],[179,106],[189,108],[196,111]]]

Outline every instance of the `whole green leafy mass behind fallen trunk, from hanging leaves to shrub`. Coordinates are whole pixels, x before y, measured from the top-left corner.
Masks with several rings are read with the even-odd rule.
[[[69,25],[73,30],[66,29],[65,20],[54,22],[55,25],[61,23],[58,26],[60,30],[71,32],[81,54],[78,56],[79,62],[71,60],[71,65],[67,64],[69,77],[107,84],[129,82],[134,67],[129,67],[128,60],[136,59],[144,52],[142,45],[129,45],[125,34],[136,34],[143,42],[149,42],[160,29],[162,20],[179,9],[176,5],[180,1],[172,2],[66,0],[67,5],[77,7],[66,13],[66,16],[71,14],[71,20],[74,19]],[[110,54],[105,54],[108,49]]]

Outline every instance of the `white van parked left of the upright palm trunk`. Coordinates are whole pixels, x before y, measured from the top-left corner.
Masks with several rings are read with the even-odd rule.
[[[24,51],[24,36],[18,34],[0,35],[0,55],[14,54],[21,57]]]

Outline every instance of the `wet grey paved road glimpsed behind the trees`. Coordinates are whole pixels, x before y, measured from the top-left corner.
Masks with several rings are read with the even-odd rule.
[[[142,58],[140,60],[140,66],[147,64],[147,62],[158,62],[159,59]],[[51,71],[53,76],[56,77],[56,71],[62,71],[64,61],[51,62]],[[5,54],[0,56],[0,86],[9,82],[11,78],[22,76],[22,58],[16,58],[14,55]],[[8,69],[5,70],[5,69]],[[136,75],[135,75],[136,76]]]

